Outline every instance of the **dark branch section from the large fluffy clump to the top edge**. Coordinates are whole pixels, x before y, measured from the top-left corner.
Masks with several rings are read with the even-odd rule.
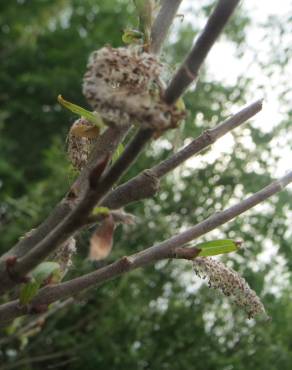
[[[219,0],[191,52],[172,78],[164,100],[173,104],[197,78],[199,69],[240,0]]]

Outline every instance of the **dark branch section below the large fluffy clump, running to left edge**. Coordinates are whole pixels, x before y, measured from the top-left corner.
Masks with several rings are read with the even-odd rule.
[[[107,164],[108,156],[100,159],[100,162],[90,173],[89,187],[84,197],[71,213],[32,250],[17,260],[9,270],[7,269],[5,261],[0,265],[0,279],[2,282],[0,293],[15,286],[22,277],[87,223],[88,216],[95,205],[101,201],[103,196],[134,162],[140,151],[151,138],[152,133],[150,129],[140,129],[127,145],[123,154],[104,175],[103,170]]]

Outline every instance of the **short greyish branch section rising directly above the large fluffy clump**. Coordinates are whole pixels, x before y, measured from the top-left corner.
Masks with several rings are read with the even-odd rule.
[[[181,2],[182,0],[162,0],[160,11],[151,30],[151,53],[159,54]]]

